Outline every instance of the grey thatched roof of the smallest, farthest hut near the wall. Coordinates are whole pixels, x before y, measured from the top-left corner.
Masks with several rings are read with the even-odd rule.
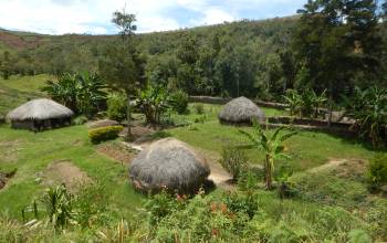
[[[264,122],[264,113],[252,101],[245,97],[234,98],[227,103],[219,113],[219,119],[226,123],[251,123],[252,119]]]

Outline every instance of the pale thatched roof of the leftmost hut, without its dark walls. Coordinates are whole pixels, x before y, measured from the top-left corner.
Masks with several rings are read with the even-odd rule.
[[[33,99],[18,108],[11,110],[7,118],[9,120],[28,120],[28,119],[51,119],[65,118],[73,116],[74,113],[67,107],[57,104],[48,98]]]

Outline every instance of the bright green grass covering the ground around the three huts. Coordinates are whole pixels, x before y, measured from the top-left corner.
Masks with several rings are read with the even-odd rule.
[[[27,97],[24,93],[40,95],[39,88],[46,78],[48,76],[34,77],[32,81],[28,77],[21,81],[12,78],[13,83],[0,81],[1,89],[19,94],[18,98],[1,106],[2,110],[7,112],[8,106],[20,103]],[[1,96],[1,99],[7,98]],[[208,159],[215,160],[212,162],[217,162],[223,146],[248,144],[239,129],[254,133],[251,127],[220,125],[217,119],[220,108],[220,105],[205,105],[205,114],[198,115],[195,104],[190,104],[189,114],[171,116],[177,124],[189,125],[167,129],[165,133],[188,142]],[[263,110],[266,116],[284,113],[268,108]],[[346,242],[349,232],[360,230],[376,242],[387,240],[387,199],[370,194],[365,179],[367,160],[374,157],[376,151],[358,140],[302,130],[286,141],[286,150],[291,159],[280,161],[276,168],[287,163],[294,170],[289,180],[294,183],[296,196],[282,200],[275,191],[254,191],[259,199],[259,210],[249,221],[248,228],[257,229],[257,237],[266,239],[271,235],[271,239],[275,239],[276,235],[279,240],[285,236],[284,232],[292,232],[295,234],[293,240]],[[247,149],[245,152],[250,162],[262,163],[262,152],[259,149]],[[127,179],[127,165],[101,154],[98,146],[90,142],[86,126],[34,134],[2,125],[0,171],[17,169],[17,173],[8,186],[0,190],[0,230],[4,229],[1,228],[4,225],[1,224],[1,215],[21,220],[21,210],[46,188],[40,180],[41,175],[57,161],[71,162],[94,181],[103,180],[109,194],[108,207],[104,211],[115,214],[116,219],[130,221],[135,215],[139,215],[138,212],[148,201],[147,197],[133,190]],[[222,190],[218,189],[208,197],[221,199]],[[142,220],[145,221],[145,218]],[[147,228],[142,228],[142,234],[146,234],[146,231]],[[33,239],[38,234],[42,232],[36,233]],[[84,234],[83,231],[74,231],[54,237],[59,242],[79,242],[86,241]],[[52,233],[49,232],[48,235],[46,239],[50,239]],[[36,239],[41,241],[44,237]]]

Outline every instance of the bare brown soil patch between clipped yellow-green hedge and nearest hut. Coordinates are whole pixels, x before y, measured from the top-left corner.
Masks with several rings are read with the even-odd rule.
[[[137,155],[135,149],[130,149],[129,147],[118,142],[101,145],[97,147],[97,151],[119,161],[122,165],[129,163]]]

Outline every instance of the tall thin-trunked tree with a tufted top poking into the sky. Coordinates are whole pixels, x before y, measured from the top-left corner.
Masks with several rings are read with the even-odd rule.
[[[121,41],[107,46],[105,56],[100,61],[100,73],[113,88],[124,91],[127,96],[127,135],[126,140],[132,139],[130,97],[136,86],[144,83],[145,59],[139,54],[136,45],[135,31],[137,27],[136,15],[127,13],[125,9],[113,13],[112,22],[119,29]]]

